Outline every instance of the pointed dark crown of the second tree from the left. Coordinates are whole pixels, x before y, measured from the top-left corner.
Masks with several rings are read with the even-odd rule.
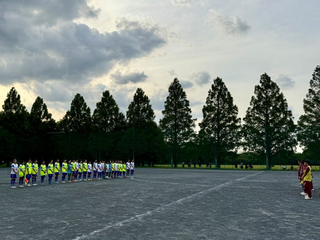
[[[30,111],[30,129],[35,132],[53,132],[56,122],[48,112],[47,105],[37,97]]]

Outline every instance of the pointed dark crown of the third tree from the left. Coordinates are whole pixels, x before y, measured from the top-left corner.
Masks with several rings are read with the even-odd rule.
[[[61,131],[89,132],[91,130],[91,111],[83,96],[77,93],[71,102],[70,110],[58,122]]]

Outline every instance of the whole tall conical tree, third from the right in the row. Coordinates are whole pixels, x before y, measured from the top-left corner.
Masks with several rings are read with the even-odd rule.
[[[205,105],[202,108],[203,120],[199,124],[204,131],[202,140],[213,143],[217,166],[220,160],[240,146],[241,118],[238,118],[238,107],[220,77],[213,80]]]

